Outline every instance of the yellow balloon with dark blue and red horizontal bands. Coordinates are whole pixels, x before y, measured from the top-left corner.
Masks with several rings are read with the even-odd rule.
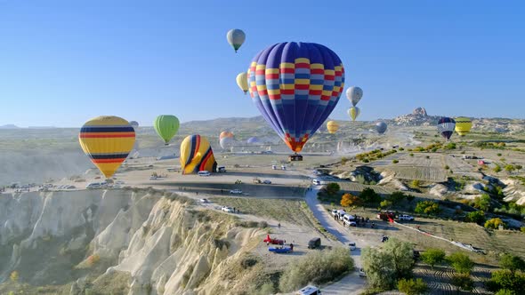
[[[78,134],[80,147],[106,178],[113,176],[135,143],[133,127],[118,116],[97,116]]]

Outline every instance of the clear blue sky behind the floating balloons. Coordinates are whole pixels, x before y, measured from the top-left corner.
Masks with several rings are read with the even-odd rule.
[[[257,116],[235,76],[286,41],[339,55],[346,86],[364,91],[361,120],[416,107],[520,118],[523,15],[523,1],[0,0],[0,125]],[[246,32],[237,54],[230,28]],[[350,106],[343,97],[331,117]]]

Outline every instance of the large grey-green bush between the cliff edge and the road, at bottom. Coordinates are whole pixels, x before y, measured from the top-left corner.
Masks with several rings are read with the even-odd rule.
[[[316,251],[302,259],[292,260],[280,278],[281,291],[293,291],[308,283],[321,284],[351,271],[354,267],[350,252],[345,248]]]

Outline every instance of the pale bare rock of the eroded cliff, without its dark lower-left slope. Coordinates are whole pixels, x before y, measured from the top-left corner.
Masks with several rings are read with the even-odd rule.
[[[65,240],[63,251],[89,248],[93,252],[85,252],[85,258],[97,254],[114,261],[107,275],[128,273],[129,295],[211,294],[217,288],[240,288],[238,282],[223,280],[222,273],[254,248],[263,231],[203,221],[197,212],[184,201],[146,190],[1,194],[0,241],[5,247],[13,240],[21,243],[12,244],[10,255],[0,258],[0,277],[27,264],[24,253]],[[33,276],[45,280],[40,270]],[[72,294],[82,293],[81,281],[73,283]]]

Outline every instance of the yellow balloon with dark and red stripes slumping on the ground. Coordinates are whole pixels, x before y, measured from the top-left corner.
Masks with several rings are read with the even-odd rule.
[[[198,171],[217,171],[214,151],[210,142],[200,135],[187,136],[181,143],[182,174],[195,174]]]

